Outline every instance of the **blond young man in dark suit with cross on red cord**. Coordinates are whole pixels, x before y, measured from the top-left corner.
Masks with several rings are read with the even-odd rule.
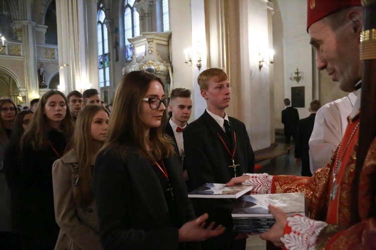
[[[229,117],[231,90],[227,74],[218,68],[203,71],[198,77],[201,95],[207,109],[183,132],[184,166],[190,180],[189,190],[209,183],[227,183],[232,177],[254,172],[255,156],[246,126]],[[245,234],[232,231],[231,211],[236,199],[192,199],[196,214],[207,212],[209,224],[216,221],[226,227],[225,233],[202,242],[202,249],[245,249]]]

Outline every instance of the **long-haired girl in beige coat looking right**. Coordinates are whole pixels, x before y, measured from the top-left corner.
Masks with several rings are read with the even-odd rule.
[[[73,148],[52,167],[55,217],[60,226],[55,249],[103,249],[93,200],[92,170],[107,136],[108,111],[87,105],[76,120]]]

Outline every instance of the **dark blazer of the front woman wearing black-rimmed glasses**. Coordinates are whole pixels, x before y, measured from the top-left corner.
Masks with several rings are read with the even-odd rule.
[[[183,248],[184,244],[178,243],[178,228],[195,215],[178,157],[163,159],[177,212],[178,225],[173,225],[164,191],[152,169],[155,166],[135,149],[124,150],[125,159],[111,149],[101,151],[94,166],[93,192],[103,248]]]

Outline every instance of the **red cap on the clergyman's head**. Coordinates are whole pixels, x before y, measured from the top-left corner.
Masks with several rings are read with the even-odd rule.
[[[353,6],[361,6],[360,0],[308,0],[307,31],[308,28],[320,19],[333,12]]]

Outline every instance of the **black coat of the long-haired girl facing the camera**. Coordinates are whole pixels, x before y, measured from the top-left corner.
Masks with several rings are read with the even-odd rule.
[[[51,130],[49,141],[60,156],[64,155],[66,136]],[[31,145],[24,145],[20,153],[20,200],[30,217],[24,224],[30,224],[35,247],[55,246],[59,226],[55,221],[54,194],[52,187],[52,165],[59,159],[48,146],[36,151]]]

